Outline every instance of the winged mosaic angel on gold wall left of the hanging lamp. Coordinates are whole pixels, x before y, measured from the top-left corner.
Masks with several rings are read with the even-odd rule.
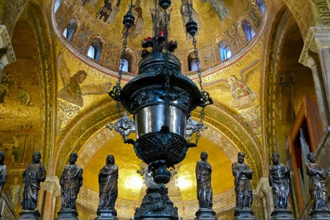
[[[74,76],[71,76],[62,53],[58,54],[57,67],[64,86],[63,89],[58,91],[58,98],[76,104],[78,107],[83,107],[84,105],[83,96],[105,94],[111,87],[109,82],[98,85],[82,85],[86,81],[87,72],[80,69]]]

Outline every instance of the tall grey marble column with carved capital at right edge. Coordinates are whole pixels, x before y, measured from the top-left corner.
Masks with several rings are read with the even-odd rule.
[[[299,63],[313,72],[323,134],[316,148],[316,160],[322,167],[330,167],[330,27],[311,27],[305,39]]]

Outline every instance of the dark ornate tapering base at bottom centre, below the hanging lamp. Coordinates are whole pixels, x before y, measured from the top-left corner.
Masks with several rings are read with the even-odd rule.
[[[178,220],[177,207],[168,197],[164,184],[151,184],[142,199],[141,207],[135,209],[134,220]]]

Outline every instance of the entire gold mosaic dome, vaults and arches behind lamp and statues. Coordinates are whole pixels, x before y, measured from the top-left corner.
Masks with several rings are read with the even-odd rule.
[[[190,148],[186,159],[170,170],[169,196],[179,217],[195,218],[195,165],[200,153],[206,151],[213,170],[213,209],[219,219],[232,219],[235,192],[231,166],[237,153],[244,152],[245,162],[254,170],[254,190],[259,180],[267,177],[274,151],[280,153],[283,163],[291,159],[287,138],[292,125],[304,97],[316,95],[311,69],[300,65],[298,59],[309,28],[329,26],[330,6],[321,0],[173,1],[168,10],[169,39],[178,42],[174,55],[181,62],[182,74],[197,85],[198,76],[190,69],[195,57],[192,38],[185,30],[189,19],[186,1],[192,2],[192,18],[199,28],[201,81],[214,104],[206,108],[207,129],[199,146]],[[98,171],[112,154],[119,166],[118,218],[133,219],[146,193],[146,164],[131,145],[122,143],[118,133],[106,128],[118,120],[115,102],[107,93],[118,80],[125,32],[122,17],[129,2],[0,2],[0,25],[5,25],[11,36],[17,58],[5,66],[0,84],[0,148],[9,169],[3,190],[6,195],[14,193],[14,186],[22,188],[21,173],[34,151],[41,152],[47,177],[55,179],[69,154],[76,152],[77,164],[84,168],[77,200],[79,217],[94,219]],[[138,74],[141,42],[153,35],[153,7],[151,0],[133,0],[135,24],[129,30],[129,65],[122,85]],[[158,22],[160,27],[164,23],[162,19]],[[102,49],[91,57],[90,45],[102,45]],[[294,81],[286,80],[290,76],[295,76]],[[192,111],[192,118],[198,120],[200,111]],[[20,189],[16,193],[21,198]],[[61,198],[56,201],[57,212]],[[290,203],[298,206],[295,199]],[[18,214],[19,200],[13,200],[12,206]],[[267,219],[256,192],[253,208],[256,217]]]

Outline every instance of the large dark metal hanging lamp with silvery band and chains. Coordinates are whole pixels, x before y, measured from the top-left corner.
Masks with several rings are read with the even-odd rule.
[[[168,41],[168,13],[170,0],[159,0],[159,6],[164,9],[162,17],[164,26],[159,25],[159,9],[154,1],[153,36],[142,41],[142,60],[138,68],[138,76],[129,83],[120,86],[122,67],[118,73],[118,82],[109,92],[117,102],[118,121],[109,129],[115,129],[122,135],[124,143],[133,144],[137,157],[142,159],[153,171],[153,180],[157,184],[170,181],[168,167],[181,162],[188,148],[197,146],[203,129],[204,108],[212,104],[208,92],[201,86],[201,69],[197,63],[199,87],[190,78],[181,74],[179,59],[171,54],[177,48],[177,41]],[[191,5],[188,5],[190,8]],[[129,28],[133,25],[133,3],[124,16],[126,32],[124,34],[122,57],[125,56]],[[198,57],[195,34],[197,23],[190,19],[186,30],[192,35],[194,53]],[[132,121],[127,114],[122,115],[121,105],[133,114]],[[195,122],[190,118],[190,112],[201,107],[201,118]],[[129,138],[130,133],[136,133],[136,140]],[[190,143],[189,136],[196,133],[196,142]]]

